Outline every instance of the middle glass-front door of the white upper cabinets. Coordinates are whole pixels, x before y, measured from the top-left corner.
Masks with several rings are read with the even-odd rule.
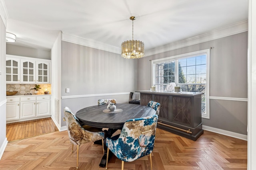
[[[35,61],[21,60],[21,82],[36,83]]]

